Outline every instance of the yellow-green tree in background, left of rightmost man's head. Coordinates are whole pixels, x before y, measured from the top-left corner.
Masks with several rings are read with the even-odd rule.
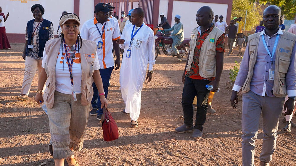
[[[247,12],[247,21],[245,20],[246,10]],[[252,31],[259,25],[262,20],[262,15],[259,14],[261,8],[259,5],[255,5],[250,0],[233,0],[232,10],[231,10],[231,19],[234,17],[242,17],[242,21],[246,24],[246,31]]]

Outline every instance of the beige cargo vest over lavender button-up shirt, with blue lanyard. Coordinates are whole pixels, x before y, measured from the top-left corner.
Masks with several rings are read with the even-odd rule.
[[[296,35],[283,31],[283,35],[280,36],[281,37],[279,39],[277,50],[275,53],[276,57],[273,94],[276,97],[282,98],[287,95],[286,73],[290,66],[290,57],[292,54],[293,46],[295,44]],[[255,33],[248,37],[250,62],[247,79],[242,86],[243,93],[250,91],[250,82],[253,76],[253,69],[257,61],[259,40],[262,40],[260,33]]]

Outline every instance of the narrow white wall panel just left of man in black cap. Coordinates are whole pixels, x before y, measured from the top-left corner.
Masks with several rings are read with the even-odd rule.
[[[94,17],[94,0],[79,1],[79,19],[81,25]]]

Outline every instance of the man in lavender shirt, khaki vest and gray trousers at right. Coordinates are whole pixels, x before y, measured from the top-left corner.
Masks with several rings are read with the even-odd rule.
[[[268,166],[276,148],[276,131],[284,110],[291,114],[296,96],[296,35],[279,28],[281,9],[263,11],[265,29],[248,37],[248,44],[234,83],[231,106],[237,108],[242,88],[242,165],[254,166],[259,119],[263,122],[260,166]],[[285,101],[285,96],[289,99]]]

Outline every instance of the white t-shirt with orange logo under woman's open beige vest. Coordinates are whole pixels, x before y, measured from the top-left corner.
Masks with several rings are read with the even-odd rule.
[[[70,48],[66,45],[67,47],[67,51],[70,50]],[[73,65],[72,65],[72,75],[73,75],[73,85],[74,85],[74,90],[76,94],[80,94],[81,93],[81,77],[82,77],[82,70],[81,70],[81,59],[80,59],[80,52],[78,51],[79,46],[77,46],[76,48],[76,52],[75,52],[75,58],[73,60]],[[70,51],[71,52],[71,51]],[[68,52],[68,54],[70,55],[70,53]],[[62,47],[59,48],[59,53],[57,55],[57,63],[56,63],[56,67],[55,67],[55,78],[56,78],[56,83],[55,83],[55,89],[58,92],[64,93],[64,94],[68,94],[68,95],[72,95],[72,84],[71,84],[71,79],[70,79],[70,71],[69,71],[69,67],[68,67],[68,62],[67,62],[67,58],[66,58],[66,53],[65,53],[65,49],[63,46],[63,50]],[[94,65],[93,68],[94,70],[99,70],[100,69],[100,65],[99,65],[99,60],[97,55],[94,56],[89,56],[87,58],[95,58],[94,60]],[[43,59],[42,59],[42,67],[45,67],[45,62],[46,62],[46,52],[44,49],[43,52]],[[71,63],[71,59],[69,59],[70,63]]]

